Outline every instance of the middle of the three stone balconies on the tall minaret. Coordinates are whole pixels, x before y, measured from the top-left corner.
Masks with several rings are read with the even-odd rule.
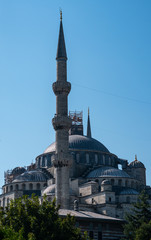
[[[69,130],[72,125],[72,120],[68,116],[55,115],[55,117],[52,119],[52,124],[55,130]]]

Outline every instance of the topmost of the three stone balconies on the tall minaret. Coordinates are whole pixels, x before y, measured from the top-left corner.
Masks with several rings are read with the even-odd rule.
[[[57,81],[52,84],[53,91],[55,95],[59,94],[69,94],[71,90],[71,83],[70,82],[62,82],[62,81]]]

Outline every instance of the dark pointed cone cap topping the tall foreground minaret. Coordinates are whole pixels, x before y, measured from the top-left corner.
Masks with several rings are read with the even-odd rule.
[[[58,48],[56,60],[59,58],[65,58],[67,60],[66,46],[63,33],[63,24],[62,24],[62,11],[60,10],[60,30],[59,30],[59,39],[58,39]]]

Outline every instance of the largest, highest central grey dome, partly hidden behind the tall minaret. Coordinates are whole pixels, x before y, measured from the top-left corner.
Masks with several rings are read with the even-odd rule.
[[[109,150],[99,141],[94,138],[89,138],[82,135],[70,135],[69,136],[69,149],[71,150],[91,150],[109,153]],[[55,151],[55,142],[49,145],[44,153],[50,153]]]

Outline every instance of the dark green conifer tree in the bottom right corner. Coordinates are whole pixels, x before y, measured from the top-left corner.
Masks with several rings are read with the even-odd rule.
[[[128,240],[150,240],[151,235],[149,228],[151,227],[151,206],[148,202],[148,196],[143,191],[134,204],[132,212],[127,214],[127,223],[124,226],[124,234]],[[146,233],[147,238],[140,238],[142,231]],[[145,232],[146,231],[146,232]],[[144,235],[145,236],[145,235]]]

